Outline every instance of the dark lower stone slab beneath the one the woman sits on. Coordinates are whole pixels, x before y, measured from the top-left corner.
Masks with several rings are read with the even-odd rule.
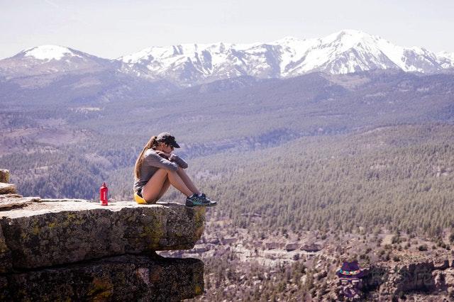
[[[182,301],[204,291],[199,259],[123,255],[0,276],[1,301]]]

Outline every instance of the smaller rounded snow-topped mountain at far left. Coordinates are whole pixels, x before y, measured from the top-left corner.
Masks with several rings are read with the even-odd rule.
[[[118,62],[57,45],[42,45],[23,50],[0,60],[0,75],[8,78],[42,74],[89,72],[111,68]]]

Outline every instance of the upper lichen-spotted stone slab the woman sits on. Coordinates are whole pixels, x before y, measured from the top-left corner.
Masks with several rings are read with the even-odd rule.
[[[205,208],[120,201],[30,203],[0,211],[13,269],[50,267],[155,250],[189,250],[204,231]],[[5,265],[4,266],[8,266]]]

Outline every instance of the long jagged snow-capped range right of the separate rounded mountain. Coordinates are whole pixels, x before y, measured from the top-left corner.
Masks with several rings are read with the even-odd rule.
[[[359,30],[305,40],[287,37],[272,43],[149,47],[118,60],[123,62],[123,72],[183,85],[243,75],[294,77],[316,71],[345,74],[371,69],[430,73],[454,67],[454,54],[400,47]]]

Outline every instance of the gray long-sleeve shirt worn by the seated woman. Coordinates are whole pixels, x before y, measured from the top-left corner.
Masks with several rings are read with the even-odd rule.
[[[187,162],[177,155],[173,155],[170,160],[167,160],[164,157],[160,157],[155,150],[148,149],[143,154],[143,157],[142,167],[140,167],[140,179],[135,179],[134,181],[135,192],[145,186],[158,169],[177,171],[178,167],[187,168]]]

